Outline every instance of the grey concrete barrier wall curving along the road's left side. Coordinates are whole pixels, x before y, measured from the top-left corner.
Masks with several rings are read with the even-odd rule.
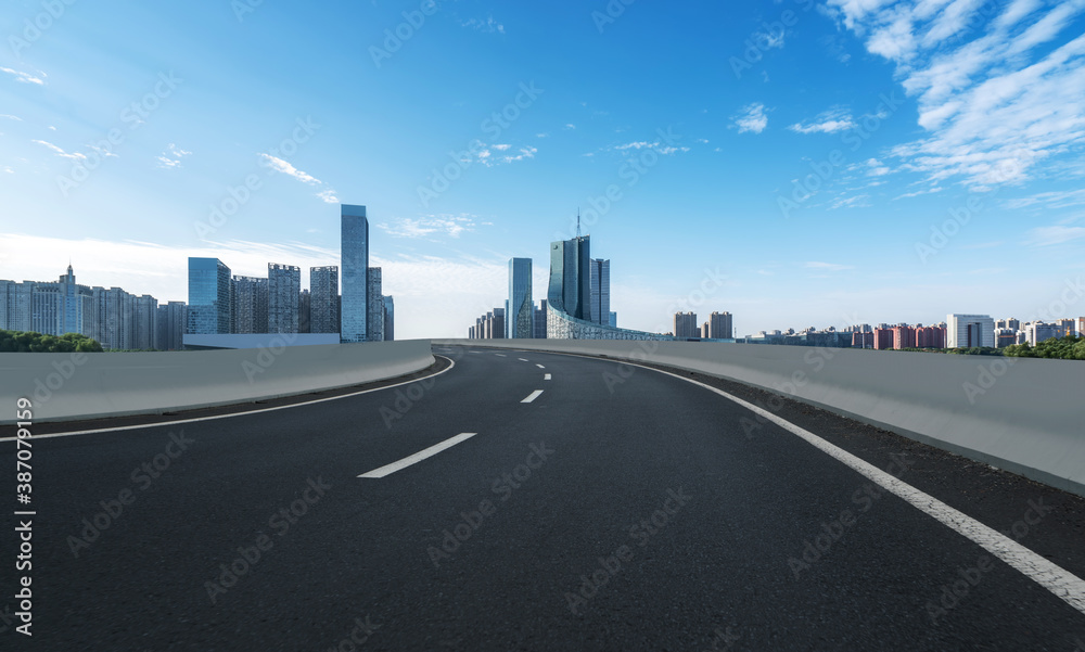
[[[161,413],[345,387],[433,365],[427,340],[173,353],[0,354],[0,424]]]

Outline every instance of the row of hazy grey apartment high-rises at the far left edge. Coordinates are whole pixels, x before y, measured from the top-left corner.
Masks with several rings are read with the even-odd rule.
[[[175,350],[186,322],[183,302],[158,305],[150,294],[80,285],[71,265],[55,282],[0,281],[0,329],[8,331],[79,333],[112,350]]]

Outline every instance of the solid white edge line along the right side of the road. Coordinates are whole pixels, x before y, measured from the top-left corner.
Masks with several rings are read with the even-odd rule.
[[[855,457],[846,450],[826,442],[814,433],[804,430],[790,421],[782,419],[781,417],[777,417],[768,410],[742,400],[737,396],[731,396],[723,389],[717,389],[712,385],[694,381],[693,379],[680,376],[676,373],[663,371],[661,369],[644,367],[643,365],[637,365],[635,362],[618,362],[640,367],[642,369],[649,369],[651,371],[684,380],[688,383],[693,383],[694,385],[700,385],[710,392],[715,392],[724,398],[746,408],[755,414],[764,417],[783,430],[805,439],[818,450],[829,455],[840,462],[843,462],[860,475],[864,475],[870,481],[881,485],[890,493],[911,503],[912,507],[940,521],[954,532],[971,540],[973,544],[994,554],[1010,566],[1013,566],[1025,577],[1051,591],[1055,596],[1065,601],[1067,604],[1085,614],[1085,580],[1077,577],[1070,571],[1051,563],[1044,557],[1033,552],[1021,544],[1018,544],[1000,532],[987,527],[968,514],[949,507],[937,498],[912,487],[908,483],[903,482],[896,476],[878,469],[873,464]]]

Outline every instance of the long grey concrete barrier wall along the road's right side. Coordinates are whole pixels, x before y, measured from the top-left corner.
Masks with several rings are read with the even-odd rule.
[[[1085,496],[1085,362],[1077,360],[707,342],[437,340],[434,344],[602,355],[699,371],[824,407]]]

